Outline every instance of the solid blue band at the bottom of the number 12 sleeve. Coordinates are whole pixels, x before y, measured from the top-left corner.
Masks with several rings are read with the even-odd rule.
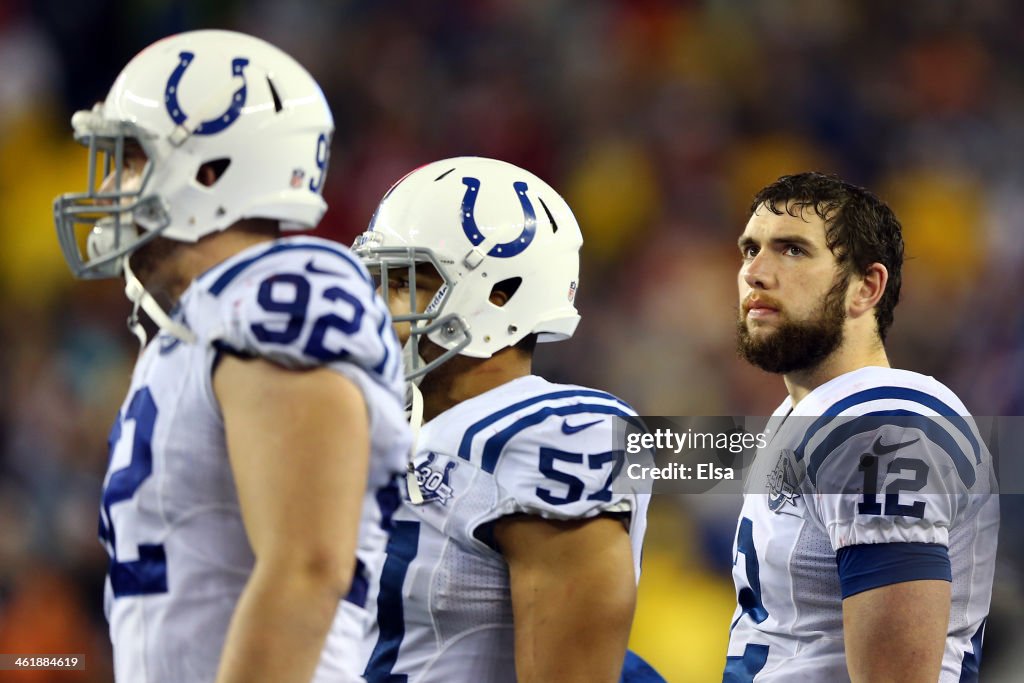
[[[874,543],[836,553],[843,599],[908,581],[953,580],[949,550],[936,543]]]

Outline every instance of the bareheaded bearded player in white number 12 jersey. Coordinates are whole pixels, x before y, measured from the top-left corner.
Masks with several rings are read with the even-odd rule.
[[[818,173],[779,178],[751,214],[738,347],[788,396],[746,482],[723,680],[976,681],[993,466],[952,391],[889,366],[900,224]]]

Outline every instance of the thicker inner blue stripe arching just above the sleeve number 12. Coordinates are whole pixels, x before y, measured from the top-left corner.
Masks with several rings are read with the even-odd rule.
[[[947,456],[953,461],[953,465],[956,467],[956,474],[959,476],[961,481],[964,482],[968,488],[974,485],[977,479],[977,474],[974,471],[974,466],[971,461],[964,454],[964,450],[961,449],[956,439],[947,432],[942,426],[936,424],[934,417],[928,417],[924,415],[918,415],[916,413],[910,413],[909,411],[880,411],[878,413],[868,413],[856,417],[849,422],[846,422],[831,431],[824,438],[821,443],[815,446],[814,451],[811,452],[811,457],[807,465],[807,476],[811,480],[812,484],[816,484],[818,469],[824,464],[824,461],[828,458],[831,453],[840,447],[847,439],[857,435],[863,434],[865,432],[872,432],[882,427],[886,426],[902,427],[904,429],[919,429],[924,432],[925,436],[941,447]],[[822,492],[829,494],[840,494],[845,492]]]

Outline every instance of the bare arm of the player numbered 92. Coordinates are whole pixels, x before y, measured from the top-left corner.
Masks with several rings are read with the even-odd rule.
[[[214,390],[256,555],[217,681],[308,681],[355,566],[370,451],[362,395],[326,369],[232,356]]]

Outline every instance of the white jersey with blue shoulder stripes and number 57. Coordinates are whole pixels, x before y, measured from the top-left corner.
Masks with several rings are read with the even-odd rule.
[[[370,683],[514,683],[508,564],[494,542],[506,515],[622,514],[639,578],[649,496],[628,490],[629,480],[612,488],[623,463],[613,418],[634,415],[603,391],[529,376],[423,426],[415,466],[424,500],[407,495],[393,516]]]

